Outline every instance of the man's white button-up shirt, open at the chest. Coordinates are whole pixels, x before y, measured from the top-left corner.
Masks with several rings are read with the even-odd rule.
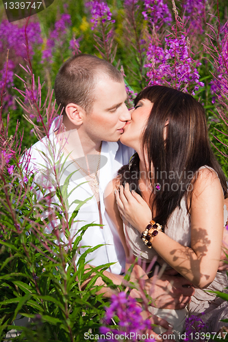
[[[47,137],[43,138],[34,144],[29,151],[31,155],[29,169],[35,169],[37,171],[34,181],[40,183],[40,185],[45,184],[44,182],[47,184],[45,178],[47,178],[49,170],[53,170],[53,164],[55,164],[57,170],[60,170],[58,165],[62,165],[66,158],[66,154],[64,155],[61,153],[60,145],[53,133],[55,129],[56,120],[51,126],[49,139]],[[94,266],[114,263],[109,269],[110,272],[114,274],[121,274],[121,272],[124,272],[125,252],[116,228],[113,226],[105,211],[103,194],[107,183],[114,178],[121,166],[129,162],[133,153],[133,149],[123,146],[119,142],[103,142],[99,168],[99,197],[103,226],[102,228],[100,226],[88,226],[80,243],[81,246],[91,247],[104,244],[104,246],[89,253],[86,262],[90,262],[90,264]],[[71,217],[71,214],[77,208],[77,205],[79,205],[79,201],[86,201],[86,199],[90,198],[81,206],[79,213],[75,218],[75,222],[73,223],[73,226],[71,226],[72,237],[86,224],[99,224],[99,208],[97,200],[93,196],[92,189],[90,188],[90,185],[88,185],[88,181],[84,179],[79,171],[76,171],[78,169],[77,165],[73,163],[71,159],[68,159],[64,164],[64,168],[64,172],[60,174],[60,185],[66,185],[68,182],[65,201],[66,203],[68,202],[69,217]],[[70,177],[69,175],[72,172],[75,173]],[[55,181],[55,177],[52,176],[52,179]],[[77,187],[77,185],[79,186]],[[71,192],[72,190],[73,192]],[[83,251],[84,248],[81,248],[80,252],[82,253]]]

